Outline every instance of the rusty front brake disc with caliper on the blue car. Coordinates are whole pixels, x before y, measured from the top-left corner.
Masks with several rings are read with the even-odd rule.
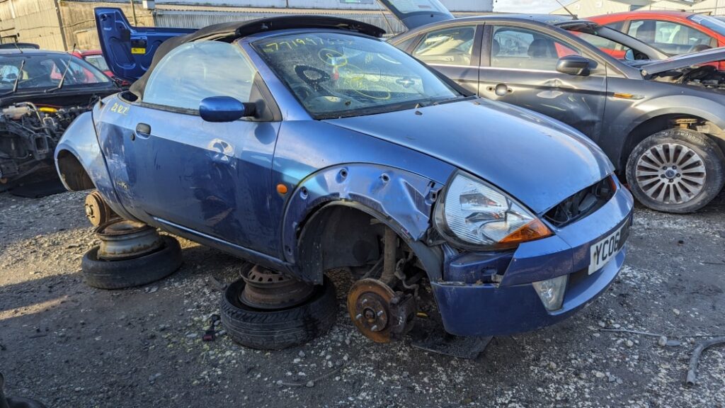
[[[347,311],[365,337],[376,343],[389,343],[413,328],[417,308],[410,293],[395,293],[381,280],[368,278],[350,288]]]

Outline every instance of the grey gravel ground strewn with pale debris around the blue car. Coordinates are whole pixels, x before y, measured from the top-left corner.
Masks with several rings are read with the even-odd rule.
[[[700,338],[682,337],[725,335],[725,195],[690,216],[637,208],[626,266],[604,295],[554,327],[494,338],[475,360],[370,343],[341,290],[336,326],[306,346],[204,342],[220,299],[211,278],[231,282],[241,261],[181,240],[171,277],[87,287],[80,259],[96,240],[84,196],[0,194],[0,371],[11,396],[49,407],[725,407],[725,348],[705,351],[687,388]]]

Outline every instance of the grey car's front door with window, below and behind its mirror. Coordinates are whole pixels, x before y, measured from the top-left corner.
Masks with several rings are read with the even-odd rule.
[[[592,139],[599,137],[607,90],[604,64],[592,60],[587,76],[558,72],[560,57],[581,52],[534,26],[486,24],[482,42],[479,95],[535,110]]]

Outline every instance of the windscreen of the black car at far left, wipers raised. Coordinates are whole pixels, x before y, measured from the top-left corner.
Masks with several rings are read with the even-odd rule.
[[[16,81],[18,90],[56,87],[63,78],[66,68],[64,89],[110,81],[93,65],[72,55],[14,54],[0,56],[0,91],[12,90]]]

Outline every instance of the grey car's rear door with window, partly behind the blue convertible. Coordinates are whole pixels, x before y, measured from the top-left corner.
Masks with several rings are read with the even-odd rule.
[[[479,87],[482,26],[452,24],[424,33],[413,49],[418,58],[472,92]]]

